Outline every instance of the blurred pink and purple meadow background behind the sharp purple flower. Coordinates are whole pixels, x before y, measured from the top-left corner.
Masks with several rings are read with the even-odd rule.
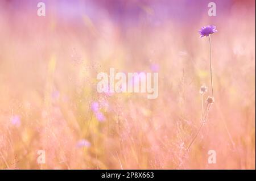
[[[0,2],[0,169],[255,169],[254,0],[214,1],[211,17],[210,1],[42,2],[45,17],[36,1]],[[187,150],[208,24],[215,103]],[[109,68],[158,71],[158,98],[97,93]]]

